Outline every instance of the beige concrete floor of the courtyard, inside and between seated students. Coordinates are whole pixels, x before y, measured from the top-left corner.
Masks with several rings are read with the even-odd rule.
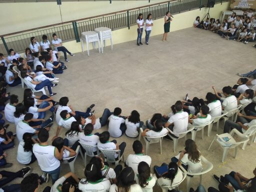
[[[155,112],[167,114],[170,105],[176,100],[182,99],[186,93],[190,98],[197,96],[205,98],[211,86],[217,89],[225,85],[236,83],[238,76],[236,72],[247,72],[255,68],[255,48],[252,43],[247,45],[233,40],[226,40],[210,31],[198,28],[187,28],[169,33],[168,42],[161,40],[161,35],[152,36],[149,45],[137,46],[134,41],[116,44],[111,51],[110,47],[104,48],[104,53],[99,54],[91,50],[90,56],[87,52],[76,53],[68,58],[68,69],[64,74],[57,75],[60,82],[53,88],[58,100],[62,96],[69,97],[69,104],[76,110],[84,110],[91,103],[95,103],[95,115],[101,115],[105,107],[113,110],[114,107],[122,108],[123,115],[129,115],[130,111],[136,109],[145,121]],[[21,86],[8,88],[8,91],[19,95],[22,101],[23,89]],[[49,113],[48,113],[49,115]],[[218,133],[222,132],[223,122],[220,122]],[[9,130],[15,132],[14,124]],[[102,127],[98,132],[106,130]],[[50,130],[50,139],[55,134],[56,124]],[[210,141],[215,135],[213,127],[210,137],[204,136],[202,140],[197,133],[196,142],[201,154],[213,163],[213,169],[203,175],[202,184],[205,187],[217,187],[212,179],[212,174],[224,174],[231,170],[241,172],[247,177],[252,177],[255,167],[256,144],[247,145],[245,150],[240,147],[236,159],[233,158],[234,150],[230,150],[224,163],[221,163],[222,149],[214,143],[207,151]],[[61,130],[60,135],[64,135]],[[206,133],[205,133],[206,134]],[[188,134],[187,138],[190,138]],[[49,139],[49,142],[51,140]],[[127,143],[124,158],[132,153],[133,138],[123,135],[116,139],[117,142]],[[142,141],[142,140],[141,140]],[[178,141],[177,150],[184,147],[184,138]],[[144,144],[144,141],[142,141]],[[17,140],[15,148],[7,150],[7,161],[14,165],[6,170],[16,171],[22,167],[16,161]],[[170,157],[176,155],[173,152],[173,143],[168,140],[162,142],[162,154],[159,153],[159,144],[150,145],[149,155],[152,157],[153,165],[168,163]],[[121,161],[121,164],[123,162]],[[40,173],[37,162],[31,167]],[[84,163],[80,156],[75,162],[76,174],[83,175]],[[61,165],[61,175],[69,171],[67,164]],[[12,183],[20,182],[20,179]],[[198,177],[193,178],[193,187],[199,182]],[[50,185],[51,182],[49,181]],[[43,184],[45,186],[45,184]],[[186,181],[180,184],[179,189],[185,191]],[[41,191],[41,190],[39,190]],[[160,191],[158,186],[154,191]]]

